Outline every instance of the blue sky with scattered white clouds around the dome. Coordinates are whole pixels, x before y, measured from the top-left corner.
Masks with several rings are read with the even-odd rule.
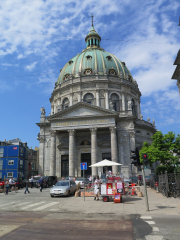
[[[0,140],[36,140],[40,108],[60,69],[85,48],[91,14],[101,47],[124,61],[142,93],[145,120],[180,133],[180,97],[171,80],[180,48],[176,0],[1,0]],[[109,39],[109,40],[105,40]]]

